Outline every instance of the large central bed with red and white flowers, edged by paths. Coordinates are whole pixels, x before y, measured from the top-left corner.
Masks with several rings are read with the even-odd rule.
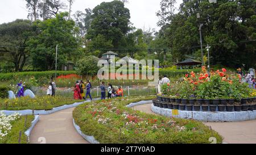
[[[85,135],[100,143],[210,143],[209,137],[222,137],[195,120],[171,119],[144,114],[126,105],[152,97],[114,98],[85,103],[73,111],[75,123]]]

